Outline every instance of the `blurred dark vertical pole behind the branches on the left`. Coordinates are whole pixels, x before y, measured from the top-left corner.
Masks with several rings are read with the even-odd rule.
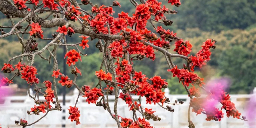
[[[66,54],[66,47],[63,46],[63,58]],[[63,74],[66,75],[66,63],[65,63],[65,59],[63,59]],[[63,108],[65,108],[65,103],[66,103],[66,86],[63,86]],[[62,109],[62,112],[63,112],[63,116],[62,116],[62,119],[63,119],[63,122],[65,122],[66,120],[66,116],[65,116],[65,109]],[[63,123],[62,124],[62,127],[66,127],[66,124]]]

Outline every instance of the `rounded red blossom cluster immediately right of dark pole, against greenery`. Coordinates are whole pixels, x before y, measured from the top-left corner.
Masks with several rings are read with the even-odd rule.
[[[66,53],[66,55],[64,56],[64,59],[68,57],[67,59],[67,63],[69,65],[69,67],[71,66],[71,64],[75,65],[76,62],[80,59],[80,61],[82,61],[81,56],[80,56],[80,52],[77,52],[75,49],[68,51]]]

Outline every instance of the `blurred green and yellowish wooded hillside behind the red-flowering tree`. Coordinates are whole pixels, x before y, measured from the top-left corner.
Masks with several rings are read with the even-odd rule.
[[[131,16],[135,8],[127,0],[118,0],[121,8],[113,7],[114,17],[121,11],[128,12]],[[197,0],[185,1],[181,0],[180,7],[171,6],[166,1],[160,0],[167,8],[177,10],[178,14],[167,15],[168,19],[174,21],[172,26],[164,26],[165,29],[177,32],[177,35],[184,40],[190,40],[193,44],[194,55],[201,44],[208,38],[217,40],[216,49],[212,49],[211,61],[202,69],[196,69],[200,77],[209,80],[214,77],[227,77],[232,83],[229,90],[231,94],[248,94],[256,86],[256,1],[255,0]],[[78,1],[81,3],[81,1]],[[112,0],[93,1],[98,5],[111,5]],[[82,9],[90,11],[90,6],[82,5]],[[48,13],[39,14],[41,17],[46,17]],[[53,18],[53,17],[50,17]],[[48,19],[50,19],[48,18]],[[19,18],[15,18],[17,22]],[[71,21],[72,22],[72,21]],[[78,22],[72,22],[79,26]],[[0,25],[11,25],[4,14],[0,14]],[[26,27],[27,23],[23,24]],[[161,25],[155,22],[155,25]],[[147,25],[148,29],[155,32],[151,25]],[[51,38],[51,34],[55,33],[58,27],[43,28],[44,38]],[[8,32],[10,29],[4,29]],[[81,41],[78,38],[79,34],[74,34],[71,38],[67,36],[68,43],[77,43]],[[26,37],[25,37],[26,39]],[[49,40],[36,39],[39,42],[39,49],[49,43]],[[95,47],[97,40],[90,41],[90,48],[81,51],[88,56],[82,57],[82,62],[77,62],[76,66],[81,70],[82,77],[78,77],[77,84],[94,86],[97,84],[97,78],[94,75],[101,64],[102,54]],[[173,45],[173,43],[171,43]],[[172,46],[174,47],[174,46]],[[53,48],[50,48],[53,49]],[[170,50],[172,52],[172,50]],[[6,63],[12,56],[21,53],[21,45],[18,43],[16,35],[0,39],[0,62]],[[58,48],[59,68],[63,71],[63,48]],[[49,57],[48,53],[42,54],[44,57]],[[11,64],[16,64],[19,60],[12,61]],[[52,60],[53,61],[53,60]],[[63,62],[65,61],[65,62]],[[180,68],[185,62],[182,59],[174,59],[174,64]],[[168,65],[164,56],[156,52],[155,61],[144,59],[136,61],[135,69],[142,71],[147,77],[160,75],[168,82],[171,94],[186,94],[185,89],[179,83],[177,78],[173,78],[170,72],[167,72]],[[35,58],[34,66],[38,69],[37,77],[40,79],[40,84],[45,80],[52,80],[52,63],[42,60],[39,56]],[[67,75],[72,78],[70,73],[71,68],[67,68]],[[13,74],[5,74],[7,77],[12,77]],[[20,88],[27,88],[26,81],[16,77],[14,82]],[[62,86],[58,86],[62,88]],[[71,89],[69,89],[71,90]],[[61,92],[61,90],[60,90]]]

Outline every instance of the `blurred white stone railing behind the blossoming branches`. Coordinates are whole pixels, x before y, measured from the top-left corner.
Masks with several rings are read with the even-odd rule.
[[[169,95],[169,90],[165,89],[166,97],[170,98],[171,102],[175,100],[185,101],[182,105],[171,106],[174,108],[174,113],[164,110],[157,104],[150,105],[146,104],[145,99],[142,98],[142,106],[144,108],[153,108],[156,115],[162,118],[161,121],[152,121],[150,123],[153,127],[165,127],[165,128],[187,128],[187,110],[189,106],[189,97],[187,95]],[[32,90],[30,92],[33,92]],[[74,95],[66,96],[66,105],[62,106],[62,111],[65,110],[65,113],[62,111],[50,111],[46,117],[44,117],[38,123],[28,127],[28,128],[57,128],[62,127],[62,124],[66,124],[68,128],[116,128],[116,122],[111,118],[109,113],[103,109],[103,107],[95,106],[95,104],[88,104],[85,102],[85,98],[80,97],[77,103],[77,107],[80,110],[80,122],[81,125],[75,125],[75,122],[71,122],[68,117],[69,114],[67,109],[69,106],[74,106],[78,91],[74,90]],[[231,101],[236,104],[236,108],[240,113],[245,114],[245,108],[247,107],[247,102],[256,98],[256,88],[254,93],[250,95],[230,95]],[[62,96],[58,97],[60,101],[63,100]],[[138,99],[138,96],[133,96],[134,99]],[[40,99],[44,97],[40,96]],[[113,105],[115,100],[115,95],[109,95],[110,107],[113,112]],[[28,115],[27,110],[30,111],[30,108],[34,106],[34,101],[28,95],[27,96],[10,96],[5,97],[4,104],[0,104],[0,124],[2,128],[13,128],[19,127],[16,126],[14,121],[19,120],[20,118],[25,118],[28,123],[34,122],[39,119],[43,114],[37,115]],[[218,106],[219,108],[221,107]],[[129,111],[128,105],[125,104],[122,99],[118,100],[118,115],[122,117],[132,118],[132,112]],[[223,111],[225,113],[225,110]],[[138,113],[139,114],[139,113]],[[65,116],[65,119],[63,119]],[[139,114],[139,116],[141,116]],[[220,122],[218,121],[206,121],[206,115],[201,114],[196,116],[195,113],[191,113],[191,120],[196,125],[197,128],[249,128],[247,121],[242,121],[238,119],[233,119],[233,117],[227,118],[224,116]],[[256,120],[255,120],[256,122]],[[256,127],[256,125],[255,125]]]

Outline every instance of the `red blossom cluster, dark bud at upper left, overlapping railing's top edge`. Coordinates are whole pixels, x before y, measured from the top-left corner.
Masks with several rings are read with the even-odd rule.
[[[98,100],[98,98],[100,96],[103,96],[103,94],[101,93],[101,89],[98,88],[93,88],[90,89],[90,86],[84,86],[82,88],[82,90],[85,92],[85,95],[83,95],[83,97],[87,97],[86,102],[90,103],[95,103]]]

